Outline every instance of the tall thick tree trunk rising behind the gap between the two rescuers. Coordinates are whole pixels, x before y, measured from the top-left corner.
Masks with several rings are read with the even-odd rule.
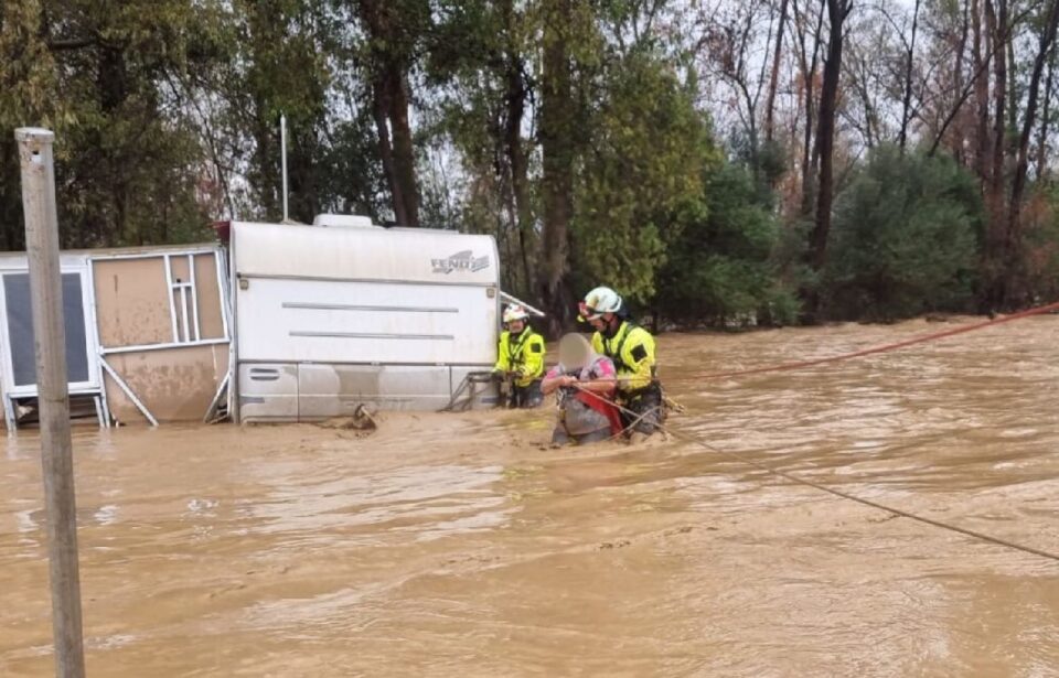
[[[569,226],[574,203],[573,62],[568,26],[574,0],[544,2],[544,72],[541,101],[544,234],[541,298],[549,312],[553,334],[570,318],[568,273]]]

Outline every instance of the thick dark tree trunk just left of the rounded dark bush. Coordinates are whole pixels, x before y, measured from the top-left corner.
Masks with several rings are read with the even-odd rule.
[[[827,58],[820,92],[820,126],[816,147],[820,149],[820,182],[816,190],[816,225],[810,234],[810,265],[814,271],[824,268],[827,260],[827,235],[831,232],[831,212],[834,202],[835,116],[838,101],[838,79],[842,75],[843,24],[849,12],[849,0],[826,0],[831,32]],[[815,300],[814,300],[815,301]],[[817,309],[811,309],[816,311]]]

